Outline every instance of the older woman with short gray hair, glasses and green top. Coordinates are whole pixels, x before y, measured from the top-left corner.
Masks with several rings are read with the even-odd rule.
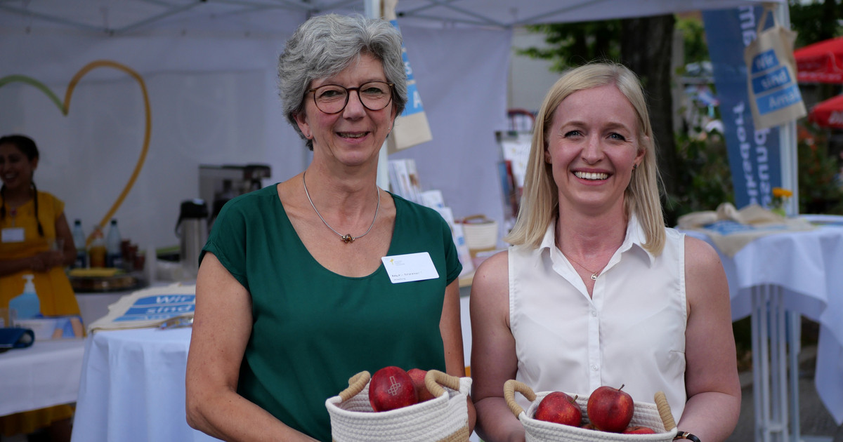
[[[376,184],[407,100],[397,29],[309,19],[278,77],[313,161],[229,201],[214,222],[196,280],[187,420],[225,440],[328,441],[325,399],[362,370],[464,375],[462,266],[437,212]],[[390,278],[384,266],[402,259],[416,280]]]

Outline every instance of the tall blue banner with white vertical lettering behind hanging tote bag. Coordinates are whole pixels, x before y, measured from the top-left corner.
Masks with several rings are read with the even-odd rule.
[[[738,209],[750,204],[768,207],[772,201],[772,189],[781,187],[779,131],[775,128],[755,130],[747,91],[749,74],[744,62],[744,48],[755,40],[755,29],[762,13],[763,6],[702,13]],[[768,24],[772,22],[767,20]],[[761,70],[773,61],[763,56],[756,57],[752,70]],[[790,80],[787,72],[784,72],[784,77],[781,75],[781,72],[769,72],[761,77],[753,76],[752,87],[757,93]],[[782,105],[787,104],[787,97],[786,88],[781,95]]]

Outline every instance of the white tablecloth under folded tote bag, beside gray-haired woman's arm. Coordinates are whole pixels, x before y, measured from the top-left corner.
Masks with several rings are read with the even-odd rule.
[[[191,328],[89,336],[72,442],[217,440],[185,420],[190,341]]]

